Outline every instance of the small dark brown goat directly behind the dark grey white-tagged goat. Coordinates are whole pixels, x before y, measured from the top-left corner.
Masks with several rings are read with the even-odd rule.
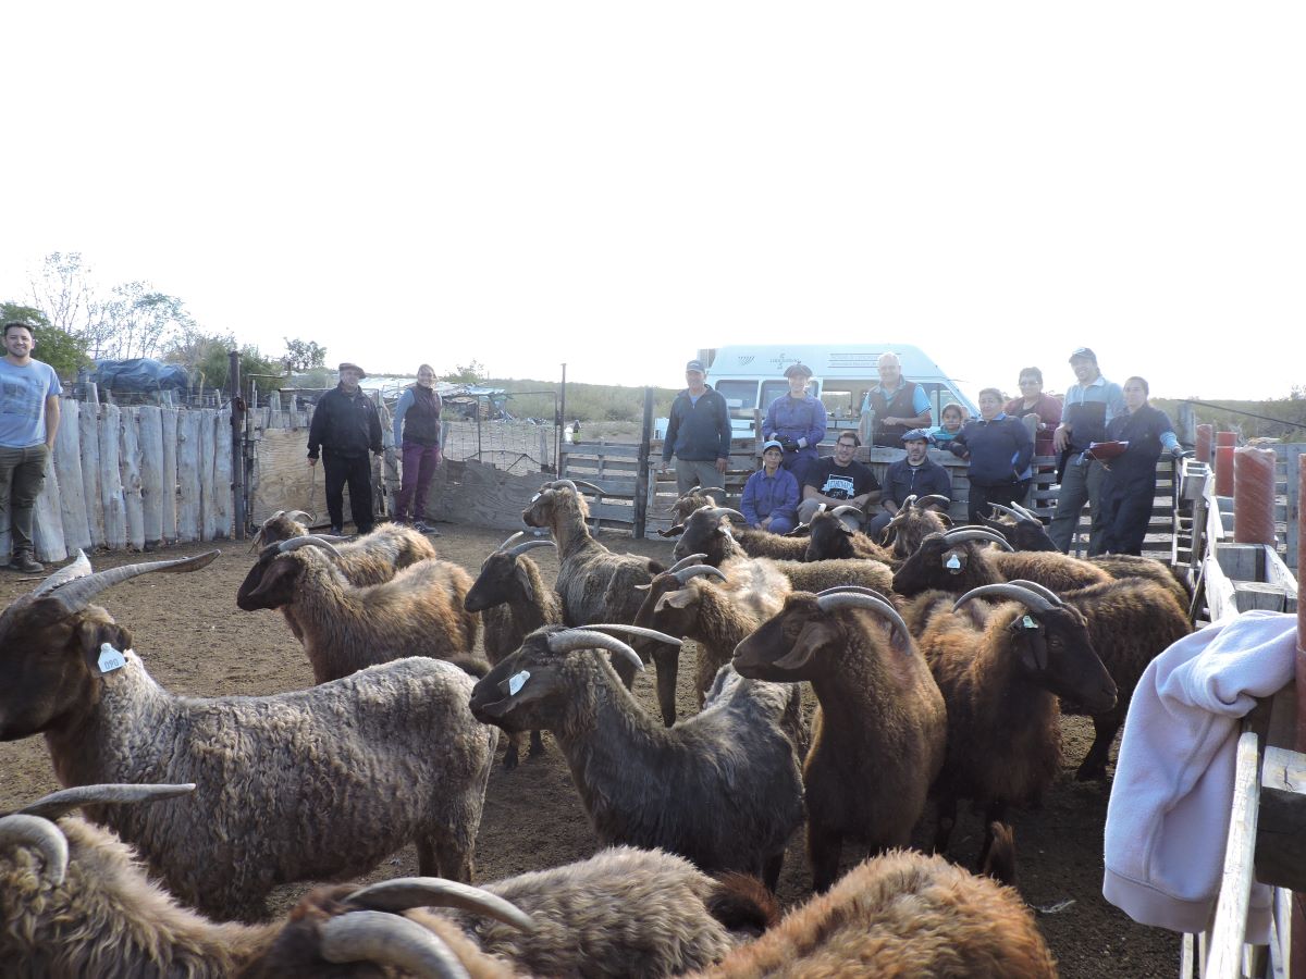
[[[558,593],[545,586],[539,567],[526,557],[526,551],[535,547],[554,547],[552,540],[513,542],[522,533],[518,530],[485,559],[481,574],[477,576],[462,607],[469,612],[481,614],[482,641],[490,666],[513,653],[526,636],[545,625],[558,625],[563,621],[563,600]],[[542,754],[545,743],[539,731],[530,732],[532,757]],[[508,751],[503,756],[503,766],[517,768],[521,757],[521,732],[508,735]]]

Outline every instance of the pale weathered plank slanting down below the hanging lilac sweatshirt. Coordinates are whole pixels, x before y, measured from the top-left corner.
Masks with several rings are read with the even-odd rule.
[[[1229,841],[1211,929],[1211,957],[1204,972],[1211,979],[1237,979],[1241,974],[1255,867],[1259,761],[1256,735],[1246,731],[1238,738]]]

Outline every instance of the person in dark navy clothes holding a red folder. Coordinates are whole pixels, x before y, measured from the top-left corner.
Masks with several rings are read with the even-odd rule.
[[[1148,384],[1141,377],[1124,381],[1124,414],[1106,427],[1109,441],[1128,443],[1115,458],[1102,463],[1102,553],[1143,553],[1147,525],[1156,501],[1156,461],[1161,449],[1182,456],[1174,426],[1160,409],[1148,403]]]

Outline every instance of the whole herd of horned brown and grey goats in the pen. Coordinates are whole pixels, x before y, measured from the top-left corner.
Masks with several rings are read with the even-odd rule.
[[[1169,569],[1060,555],[1020,509],[949,527],[909,500],[882,543],[848,508],[781,538],[697,496],[663,568],[596,540],[582,487],[545,484],[522,518],[551,539],[513,535],[474,582],[398,525],[346,542],[269,518],[236,602],[281,610],[306,691],[171,694],[91,603],[217,552],[78,556],[16,599],[0,740],[44,734],[69,788],[0,817],[0,974],[1055,975],[1004,886],[1008,807],[1051,783],[1062,711],[1093,719],[1077,777],[1106,777],[1143,668],[1188,632]],[[554,587],[529,556],[550,546]],[[677,719],[682,655],[700,711]],[[661,718],[629,693],[648,663]],[[605,848],[471,886],[500,730],[509,769],[552,734]],[[978,875],[942,856],[963,800],[985,813]],[[927,815],[936,856],[906,848]],[[804,820],[816,894],[781,919]],[[879,855],[840,877],[845,841]],[[419,877],[270,916],[277,885],[410,842]]]

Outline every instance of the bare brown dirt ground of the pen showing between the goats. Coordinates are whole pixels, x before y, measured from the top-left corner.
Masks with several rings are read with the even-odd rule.
[[[473,574],[485,555],[503,536],[502,531],[440,525],[436,540],[443,556],[458,561]],[[670,555],[671,543],[631,540],[616,534],[601,539],[618,551],[650,556]],[[179,694],[268,694],[308,687],[312,674],[299,645],[279,612],[242,612],[235,594],[253,563],[247,543],[221,544],[222,556],[193,574],[148,574],[101,595],[101,603],[131,627],[135,649],[150,674]],[[187,546],[149,557],[179,557],[209,550]],[[534,551],[546,577],[556,574],[551,552]],[[91,557],[97,569],[141,560],[140,555],[103,553]],[[0,600],[34,586],[9,572],[0,572]],[[680,713],[695,710],[688,680],[693,670],[680,670]],[[635,687],[644,706],[657,714],[653,672],[641,675]],[[1063,778],[1041,809],[1016,813],[1019,888],[1038,911],[1043,929],[1066,976],[1168,976],[1178,969],[1178,936],[1135,924],[1101,897],[1102,825],[1107,785],[1080,785],[1071,775],[1092,740],[1091,726],[1080,718],[1063,721],[1067,761]],[[500,753],[505,739],[500,739]],[[530,869],[552,867],[594,852],[596,842],[571,782],[567,766],[545,735],[547,752],[525,758],[515,771],[495,768],[486,798],[485,820],[477,846],[477,876],[494,880]],[[0,744],[0,811],[14,808],[59,788],[46,745],[40,738]],[[929,816],[926,817],[930,818]],[[980,820],[964,815],[953,835],[953,858],[974,859]],[[786,903],[810,893],[802,831],[789,847],[780,897]],[[918,841],[929,839],[925,826]],[[862,852],[846,852],[852,865]],[[370,880],[411,875],[417,859],[411,847],[393,855]],[[277,906],[293,903],[307,885],[282,888]]]

